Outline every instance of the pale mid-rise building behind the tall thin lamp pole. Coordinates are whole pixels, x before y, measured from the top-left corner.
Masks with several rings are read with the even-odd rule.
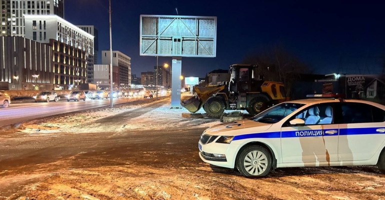
[[[109,64],[109,50],[101,51],[101,63]],[[112,51],[112,66],[119,67],[119,85],[128,86],[131,84],[131,58],[118,50]]]

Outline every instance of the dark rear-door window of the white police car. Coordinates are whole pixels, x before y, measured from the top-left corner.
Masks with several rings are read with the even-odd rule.
[[[370,123],[373,122],[371,105],[366,103],[346,102],[341,106],[342,123]]]

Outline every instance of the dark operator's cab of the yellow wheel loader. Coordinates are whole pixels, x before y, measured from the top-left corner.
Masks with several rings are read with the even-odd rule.
[[[263,83],[263,75],[257,75],[257,66],[250,64],[230,65],[230,92],[257,92]]]

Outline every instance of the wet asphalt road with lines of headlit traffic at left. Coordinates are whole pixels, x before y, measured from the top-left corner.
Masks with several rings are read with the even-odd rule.
[[[114,104],[140,100],[143,97],[114,98]],[[11,103],[7,108],[0,108],[0,127],[39,117],[51,116],[73,111],[108,106],[110,99],[86,99],[85,101],[60,100],[57,102],[22,102]]]

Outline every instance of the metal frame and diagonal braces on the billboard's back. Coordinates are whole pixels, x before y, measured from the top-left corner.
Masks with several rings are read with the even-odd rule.
[[[156,32],[157,34],[156,35],[143,35],[142,34],[142,29],[143,29],[143,18],[157,18],[157,24],[159,24],[159,19],[160,18],[168,18],[168,19],[172,19],[173,20],[168,24],[168,26],[166,26],[164,28],[164,30],[162,32],[159,32],[159,27],[156,27]],[[175,20],[177,19],[180,19],[180,21],[185,25],[185,27],[187,28],[187,30],[192,34],[191,35],[161,35],[171,24],[172,22],[174,22]],[[195,19],[195,31],[191,30],[190,28],[188,28],[188,26],[183,22],[182,19]],[[196,29],[198,29],[198,23],[197,21],[199,19],[210,19],[210,20],[214,20],[214,36],[213,37],[207,37],[207,36],[198,36],[196,34]],[[178,20],[179,21],[179,20]],[[179,27],[179,24],[178,24],[178,27]],[[159,31],[158,31],[159,30]],[[186,16],[186,15],[150,15],[150,14],[141,14],[140,15],[140,30],[139,30],[139,53],[140,55],[143,55],[143,56],[181,56],[181,57],[216,57],[216,31],[217,31],[217,19],[216,19],[216,16]],[[177,30],[177,33],[178,33],[178,30]],[[143,40],[143,37],[151,37],[151,39],[153,39],[153,41],[150,43],[150,45],[148,45],[148,47],[146,49],[142,49],[142,40]],[[159,41],[160,41],[160,38],[177,38],[179,39],[180,38],[180,46],[182,47],[182,41],[183,41],[183,38],[190,38],[190,39],[194,39],[194,45],[195,45],[195,54],[169,54],[169,53],[166,53],[166,54],[159,54]],[[213,41],[213,53],[210,53],[209,50],[205,47],[205,45],[200,41],[200,39],[206,39],[206,40],[212,40]],[[173,40],[173,39],[171,39]],[[144,53],[148,48],[150,48],[150,46],[156,42],[156,52],[157,53]],[[172,41],[171,41],[172,42]],[[205,49],[205,51],[208,53],[208,55],[204,55],[204,54],[197,54],[197,46],[198,45],[201,45],[203,47],[203,49]],[[173,45],[173,44],[172,44]]]

